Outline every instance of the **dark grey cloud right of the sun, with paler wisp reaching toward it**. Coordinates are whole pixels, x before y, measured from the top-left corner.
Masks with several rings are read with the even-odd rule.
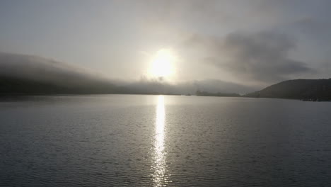
[[[231,33],[225,38],[193,35],[186,46],[207,47],[204,62],[253,81],[274,83],[294,75],[313,72],[305,62],[289,57],[296,40],[276,32]]]

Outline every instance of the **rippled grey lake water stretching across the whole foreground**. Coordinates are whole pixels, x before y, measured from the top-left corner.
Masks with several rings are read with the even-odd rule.
[[[0,142],[0,186],[331,186],[331,103],[35,96]]]

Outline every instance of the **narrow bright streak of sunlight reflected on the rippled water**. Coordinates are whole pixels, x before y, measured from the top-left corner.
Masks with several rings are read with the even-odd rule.
[[[164,96],[158,96],[156,106],[156,124],[154,136],[154,157],[153,157],[153,182],[154,186],[165,186],[168,183],[165,177],[165,152],[164,152],[164,126],[165,126],[165,107]]]

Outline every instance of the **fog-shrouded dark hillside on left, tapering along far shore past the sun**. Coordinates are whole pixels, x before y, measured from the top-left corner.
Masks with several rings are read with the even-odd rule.
[[[0,52],[0,76],[2,92],[18,94],[195,94],[198,90],[245,94],[260,89],[217,79],[178,81],[176,84],[162,79],[114,80],[45,57],[6,52]],[[18,88],[23,84],[24,89]],[[32,86],[29,88],[29,85]]]

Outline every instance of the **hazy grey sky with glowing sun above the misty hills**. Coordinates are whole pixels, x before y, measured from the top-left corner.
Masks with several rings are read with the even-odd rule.
[[[328,79],[330,5],[2,0],[0,52],[46,57],[120,80],[154,79],[156,61],[162,60],[171,61],[171,71],[160,81],[262,87],[286,79]]]

